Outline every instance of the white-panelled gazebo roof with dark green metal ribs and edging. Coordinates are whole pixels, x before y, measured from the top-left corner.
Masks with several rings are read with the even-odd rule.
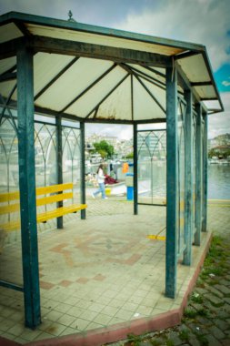
[[[85,121],[165,121],[165,68],[208,113],[224,110],[205,46],[71,20],[0,16],[0,94],[17,99],[16,50],[34,50],[35,111]]]

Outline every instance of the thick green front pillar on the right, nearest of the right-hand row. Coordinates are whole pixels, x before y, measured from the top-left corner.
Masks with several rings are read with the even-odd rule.
[[[165,296],[175,298],[178,229],[177,71],[166,68],[166,273]]]

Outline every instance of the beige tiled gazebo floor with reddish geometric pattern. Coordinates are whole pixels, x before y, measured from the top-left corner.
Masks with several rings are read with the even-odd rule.
[[[178,265],[177,297],[170,300],[164,295],[165,242],[146,238],[165,228],[165,208],[139,206],[134,216],[124,198],[88,199],[86,220],[74,215],[65,219],[65,229],[39,231],[42,324],[26,329],[22,293],[0,288],[0,335],[37,341],[155,316],[181,304],[207,236],[194,248],[193,266]],[[2,278],[22,281],[20,242],[3,251]]]

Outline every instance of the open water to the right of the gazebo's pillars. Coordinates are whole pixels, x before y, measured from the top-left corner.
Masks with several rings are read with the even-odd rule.
[[[230,165],[208,166],[207,197],[230,199]]]

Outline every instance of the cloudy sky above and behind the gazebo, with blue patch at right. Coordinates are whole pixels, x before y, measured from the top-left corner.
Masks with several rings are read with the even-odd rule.
[[[208,118],[208,137],[230,133],[230,0],[0,0],[0,15],[16,11],[68,19],[69,10],[80,23],[206,46],[225,107]],[[132,137],[131,127],[86,127],[86,134],[92,131]]]

